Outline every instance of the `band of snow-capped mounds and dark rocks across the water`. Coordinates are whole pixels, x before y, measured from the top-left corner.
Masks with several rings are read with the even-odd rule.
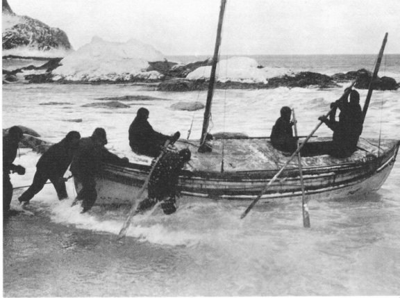
[[[35,74],[35,71],[37,73]],[[3,82],[29,83],[157,83],[161,91],[205,90],[211,72],[211,60],[196,63],[168,61],[160,51],[139,40],[108,42],[93,38],[89,44],[69,53],[65,58],[54,58],[41,67],[4,70]],[[217,88],[334,88],[357,80],[356,88],[367,89],[372,73],[365,69],[346,74],[292,72],[285,67],[259,65],[253,58],[232,57],[217,64]],[[394,78],[378,78],[377,90],[399,88]],[[339,84],[339,85],[338,85]]]

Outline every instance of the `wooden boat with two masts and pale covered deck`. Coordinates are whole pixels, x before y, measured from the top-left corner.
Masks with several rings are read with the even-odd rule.
[[[201,139],[191,141],[196,144],[203,144],[208,133],[225,4],[226,0],[222,0]],[[372,81],[378,73],[385,40]],[[363,110],[364,116],[372,95],[372,87],[371,84]],[[326,139],[317,138],[313,142],[319,141]],[[179,148],[187,145],[178,142],[176,146]],[[360,138],[358,147],[361,149],[349,158],[330,156],[301,158],[306,196],[308,199],[339,198],[378,190],[390,174],[399,146],[399,140]],[[262,138],[214,140],[211,153],[198,153],[197,147],[190,149],[192,151],[190,166],[183,170],[178,184],[185,199],[195,197],[231,201],[253,200],[288,160],[287,156]],[[222,151],[224,151],[223,156]],[[149,171],[149,165],[140,163],[130,163],[126,167],[104,165],[103,174],[97,179],[97,204],[133,204]],[[79,181],[75,183],[79,190]],[[261,201],[300,199],[301,194],[299,165],[293,161],[283,170],[280,179],[274,181],[260,199]]]

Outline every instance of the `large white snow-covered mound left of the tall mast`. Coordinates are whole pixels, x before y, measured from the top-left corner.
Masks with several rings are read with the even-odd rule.
[[[62,66],[53,71],[53,80],[65,81],[131,81],[158,80],[162,74],[147,72],[149,61],[165,56],[149,44],[138,40],[107,42],[94,37],[92,42],[70,53]]]

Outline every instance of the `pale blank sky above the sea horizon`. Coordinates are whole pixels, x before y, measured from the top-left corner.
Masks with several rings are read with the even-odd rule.
[[[219,0],[8,0],[65,31],[74,49],[97,35],[165,55],[212,55]],[[224,55],[400,53],[400,0],[227,0]]]

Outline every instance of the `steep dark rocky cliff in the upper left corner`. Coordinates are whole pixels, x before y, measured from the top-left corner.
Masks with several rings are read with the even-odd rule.
[[[67,34],[27,16],[16,15],[7,0],[3,1],[3,51],[12,49],[65,50],[72,49]]]

